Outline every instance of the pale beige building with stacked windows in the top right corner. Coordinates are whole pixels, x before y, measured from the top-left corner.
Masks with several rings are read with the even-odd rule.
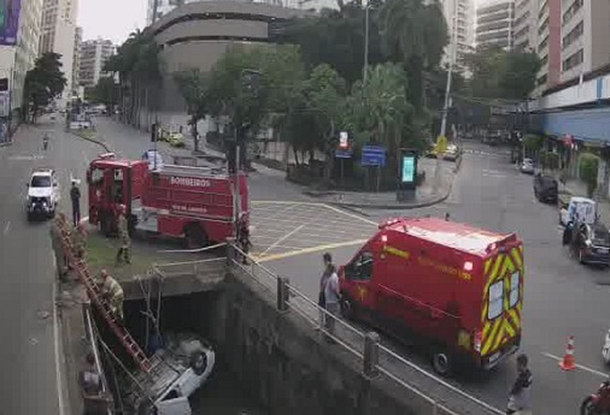
[[[610,1],[561,0],[561,82],[610,62]]]

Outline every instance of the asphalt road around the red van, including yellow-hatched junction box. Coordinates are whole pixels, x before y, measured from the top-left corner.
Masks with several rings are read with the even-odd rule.
[[[312,299],[317,298],[321,254],[332,252],[346,263],[372,235],[374,224],[389,216],[436,215],[497,230],[517,232],[525,243],[526,285],[522,351],[534,372],[534,410],[541,414],[574,414],[596,390],[607,368],[601,360],[609,327],[610,273],[583,267],[561,246],[554,206],[536,202],[532,177],[520,174],[504,150],[466,143],[462,169],[446,202],[410,211],[366,211],[361,217],[328,206],[286,202],[253,204],[253,252],[282,276],[288,276]],[[276,187],[278,199],[282,199]],[[256,192],[253,192],[256,200]],[[317,246],[315,244],[318,244]],[[282,253],[283,252],[283,253]],[[576,337],[574,372],[562,372],[558,361],[567,336]],[[384,339],[394,351],[431,370],[429,362],[407,346]],[[552,355],[552,356],[551,356]],[[450,382],[503,409],[516,372],[514,359],[489,373],[462,374]],[[425,384],[425,383],[423,383]],[[442,388],[440,388],[442,389]]]

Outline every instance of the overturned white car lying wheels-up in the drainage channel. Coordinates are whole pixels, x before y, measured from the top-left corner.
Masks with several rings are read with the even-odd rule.
[[[192,414],[188,397],[207,381],[214,368],[212,346],[201,337],[168,335],[166,343],[150,358],[150,372],[136,372],[125,390],[124,402],[135,414]]]

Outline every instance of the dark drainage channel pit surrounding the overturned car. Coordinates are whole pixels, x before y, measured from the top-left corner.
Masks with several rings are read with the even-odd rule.
[[[124,303],[125,324],[135,340],[148,353],[156,348],[157,338],[153,320],[146,314],[157,316],[159,310],[159,327],[163,333],[163,342],[184,333],[195,334],[210,342],[214,348],[215,361],[210,376],[203,385],[197,388],[190,396],[189,403],[193,414],[205,415],[264,415],[267,414],[256,397],[248,396],[247,388],[242,386],[238,377],[229,370],[228,361],[231,356],[223,353],[216,346],[218,336],[218,313],[221,309],[222,291],[199,292],[184,296],[172,296],[161,299],[161,307],[153,301],[150,308],[145,300],[131,300]],[[126,390],[133,388],[128,370],[135,371],[135,365],[124,349],[120,346],[115,335],[106,327],[104,320],[94,313],[96,326],[102,341],[111,349],[115,357],[106,354],[102,356],[104,372],[109,377],[109,385],[115,398],[116,413],[132,414],[128,401],[125,399]],[[100,350],[104,350],[100,347]],[[117,359],[122,362],[118,364]],[[117,391],[118,389],[118,391]],[[118,392],[118,393],[117,393]]]

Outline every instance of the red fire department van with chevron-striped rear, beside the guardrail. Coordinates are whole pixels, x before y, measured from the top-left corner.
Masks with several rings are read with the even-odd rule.
[[[523,243],[438,218],[383,222],[340,268],[342,311],[423,340],[434,370],[488,369],[521,342]]]

